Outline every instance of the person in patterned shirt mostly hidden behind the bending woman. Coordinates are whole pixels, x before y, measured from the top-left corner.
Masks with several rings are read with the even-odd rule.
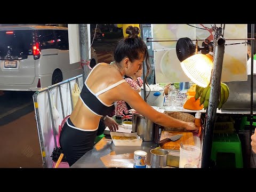
[[[131,77],[125,76],[125,81],[130,84],[132,89],[140,93],[140,87],[143,86],[143,81],[141,79],[142,69],[138,70]],[[125,101],[115,102],[115,115],[129,115],[129,110],[131,107]]]

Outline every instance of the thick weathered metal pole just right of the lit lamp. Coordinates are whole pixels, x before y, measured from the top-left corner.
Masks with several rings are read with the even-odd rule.
[[[222,73],[222,63],[225,50],[225,39],[219,37],[214,52],[214,66],[212,71],[211,79],[211,92],[209,98],[209,108],[207,111],[206,126],[205,126],[205,137],[202,153],[202,168],[209,168],[211,151],[212,151],[212,140],[213,131],[215,126],[216,114],[218,101],[220,96],[220,81]]]

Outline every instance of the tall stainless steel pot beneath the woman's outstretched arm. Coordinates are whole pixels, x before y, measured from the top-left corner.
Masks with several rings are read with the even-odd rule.
[[[143,141],[154,141],[154,123],[140,114],[132,114],[132,132],[140,136]]]

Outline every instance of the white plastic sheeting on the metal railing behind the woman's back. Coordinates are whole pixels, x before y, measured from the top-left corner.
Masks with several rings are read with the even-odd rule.
[[[70,84],[71,84],[71,89],[73,89],[75,80],[70,81]],[[67,82],[59,86],[61,86],[63,111],[64,111],[64,117],[66,117],[67,115],[70,115],[72,111],[69,84]],[[83,86],[82,76],[78,78],[78,86],[80,90],[82,90],[82,86]],[[58,133],[59,125],[61,124],[63,119],[60,92],[59,92],[58,86],[54,87],[53,89],[50,89],[50,99],[51,99],[52,109],[55,107],[58,111],[57,113],[54,113],[55,114],[54,129]],[[47,90],[37,94],[37,103],[38,103],[37,118],[39,117],[40,119],[40,124],[38,124],[37,127],[38,127],[38,131],[42,132],[47,168],[51,168],[53,163],[51,155],[52,155],[53,149],[55,148],[55,143],[54,143],[54,137],[53,137],[53,127],[51,122],[50,105],[49,105]],[[57,116],[58,114],[59,116]],[[59,135],[57,135],[57,145],[59,143],[58,140],[59,140]]]

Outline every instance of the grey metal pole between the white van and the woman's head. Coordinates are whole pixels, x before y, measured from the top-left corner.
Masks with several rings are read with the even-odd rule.
[[[88,39],[88,27],[87,24],[79,24],[79,40],[80,40],[80,53],[81,61],[85,63],[89,61],[89,39]],[[89,74],[89,68],[83,65],[83,83]]]

